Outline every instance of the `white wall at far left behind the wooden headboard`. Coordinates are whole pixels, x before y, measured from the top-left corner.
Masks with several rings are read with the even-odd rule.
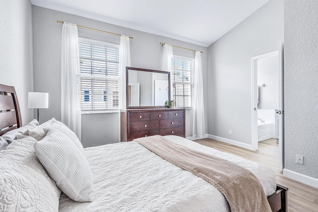
[[[29,0],[0,1],[0,84],[15,87],[22,124],[33,119],[32,7]]]

